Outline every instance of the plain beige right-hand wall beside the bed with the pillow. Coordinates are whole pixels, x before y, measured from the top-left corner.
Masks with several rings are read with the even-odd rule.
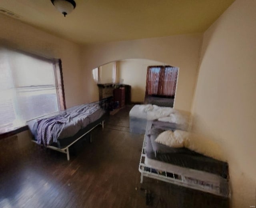
[[[192,114],[194,132],[220,144],[232,207],[256,202],[256,1],[236,0],[205,32]]]

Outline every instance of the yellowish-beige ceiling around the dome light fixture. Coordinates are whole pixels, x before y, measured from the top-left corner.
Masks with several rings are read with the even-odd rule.
[[[0,0],[26,24],[80,44],[204,32],[234,0],[75,0],[64,17],[50,0]]]

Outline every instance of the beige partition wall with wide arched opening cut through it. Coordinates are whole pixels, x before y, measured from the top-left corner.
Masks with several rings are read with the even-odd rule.
[[[98,100],[98,88],[91,70],[116,60],[148,59],[180,68],[174,108],[190,111],[197,77],[202,34],[177,35],[84,46],[84,90],[87,102]]]

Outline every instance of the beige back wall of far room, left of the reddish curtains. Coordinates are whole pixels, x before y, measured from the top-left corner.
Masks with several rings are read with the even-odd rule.
[[[164,65],[162,62],[145,59],[119,61],[119,78],[132,87],[132,102],[144,102],[148,66]]]

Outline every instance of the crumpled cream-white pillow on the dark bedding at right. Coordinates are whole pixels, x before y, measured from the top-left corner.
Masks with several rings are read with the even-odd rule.
[[[173,148],[182,148],[188,140],[188,132],[182,130],[175,130],[174,132],[168,130],[158,135],[155,142],[164,144]]]

